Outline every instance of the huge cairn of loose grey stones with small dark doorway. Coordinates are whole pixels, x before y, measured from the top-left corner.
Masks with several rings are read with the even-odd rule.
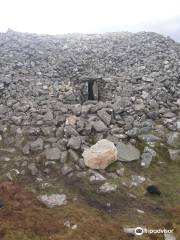
[[[1,161],[22,154],[32,161],[18,166],[32,175],[57,162],[63,175],[117,160],[148,168],[157,143],[179,159],[180,44],[172,39],[8,31],[0,66]]]

